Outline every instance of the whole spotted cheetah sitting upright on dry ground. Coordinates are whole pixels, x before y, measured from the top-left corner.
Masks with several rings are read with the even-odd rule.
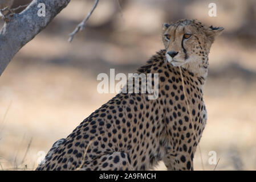
[[[165,49],[136,71],[159,75],[158,97],[117,94],[55,142],[36,170],[149,170],[160,160],[168,170],[193,170],[207,118],[208,55],[224,28],[182,19],[162,29]]]

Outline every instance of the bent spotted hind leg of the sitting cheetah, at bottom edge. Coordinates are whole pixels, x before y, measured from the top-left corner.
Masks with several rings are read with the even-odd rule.
[[[132,171],[131,159],[125,152],[112,152],[92,160],[81,170],[87,171]]]

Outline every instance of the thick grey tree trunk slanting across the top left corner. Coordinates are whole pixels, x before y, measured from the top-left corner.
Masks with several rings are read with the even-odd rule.
[[[69,2],[33,0],[21,13],[8,16],[8,23],[0,30],[0,76],[19,49],[42,31]],[[39,3],[46,6],[46,16],[38,16]]]

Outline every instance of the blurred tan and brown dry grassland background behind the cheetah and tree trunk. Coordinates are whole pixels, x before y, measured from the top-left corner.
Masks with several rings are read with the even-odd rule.
[[[208,15],[209,3],[216,3],[216,17]],[[256,1],[104,0],[68,43],[93,4],[72,0],[0,77],[0,169],[35,169],[56,140],[115,95],[97,93],[99,73],[133,73],[164,48],[163,22],[196,18],[225,28],[209,55],[202,162],[213,170],[208,154],[215,151],[216,170],[255,170]],[[202,169],[199,150],[194,169]]]

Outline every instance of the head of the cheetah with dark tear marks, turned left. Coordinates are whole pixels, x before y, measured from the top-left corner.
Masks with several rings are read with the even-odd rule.
[[[200,65],[208,60],[214,38],[222,27],[206,27],[197,20],[179,20],[163,24],[162,41],[166,49],[166,61],[174,67],[193,63]]]

